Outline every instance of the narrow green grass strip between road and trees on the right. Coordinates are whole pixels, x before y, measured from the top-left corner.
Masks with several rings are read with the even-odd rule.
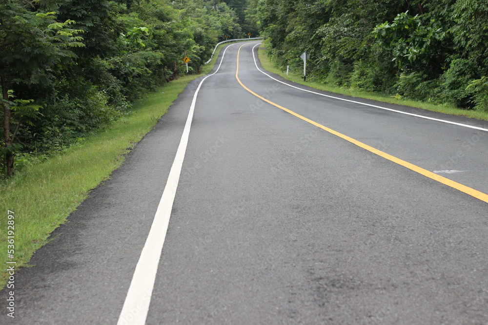
[[[366,98],[366,99],[373,99],[381,102],[386,102],[386,103],[392,103],[392,104],[399,104],[399,105],[404,105],[404,106],[409,106],[409,107],[416,107],[416,108],[421,108],[424,110],[428,111],[433,111],[433,112],[438,112],[438,113],[445,113],[449,115],[457,115],[457,116],[466,116],[470,118],[476,118],[476,119],[481,119],[481,120],[486,120],[488,121],[488,112],[482,112],[482,111],[473,111],[473,110],[463,110],[460,108],[457,108],[452,105],[436,105],[436,104],[431,104],[431,103],[425,103],[425,102],[419,102],[419,101],[414,101],[414,100],[408,100],[408,99],[396,99],[393,97],[388,97],[384,96],[381,94],[377,93],[370,93],[370,92],[364,92],[360,90],[355,90],[355,89],[344,89],[341,87],[334,87],[330,85],[326,85],[324,83],[320,82],[305,82],[303,81],[303,76],[298,76],[298,75],[293,75],[289,74],[286,76],[286,73],[283,72],[280,69],[277,69],[269,57],[266,55],[266,50],[264,48],[265,45],[261,45],[259,47],[259,59],[261,61],[261,64],[263,65],[263,68],[266,69],[267,71],[270,71],[274,74],[277,74],[279,76],[284,77],[287,80],[303,84],[315,89],[320,89],[324,90],[327,92],[331,93],[336,93],[336,94],[342,94],[342,95],[347,95],[347,96],[353,96],[353,97],[360,97],[360,98]]]

